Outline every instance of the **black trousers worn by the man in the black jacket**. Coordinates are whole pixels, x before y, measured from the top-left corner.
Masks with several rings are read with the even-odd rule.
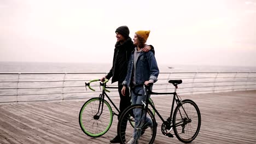
[[[131,105],[131,97],[130,97],[130,92],[129,92],[129,88],[125,89],[125,96],[121,93],[123,86],[119,85],[118,86],[118,92],[119,92],[119,96],[120,96],[120,104],[119,104],[119,110],[120,113],[118,115],[118,119],[121,116],[121,113],[128,107]]]

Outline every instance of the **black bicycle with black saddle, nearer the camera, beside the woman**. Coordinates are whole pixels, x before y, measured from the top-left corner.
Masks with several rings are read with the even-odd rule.
[[[201,115],[198,106],[194,101],[185,99],[182,100],[181,97],[176,93],[178,85],[182,83],[182,80],[169,80],[169,83],[175,87],[174,92],[172,93],[155,93],[150,90],[151,86],[145,86],[144,89],[146,92],[146,101],[142,101],[141,104],[131,105],[125,109],[121,114],[118,122],[118,134],[122,143],[153,143],[156,136],[157,123],[153,112],[148,109],[150,105],[156,114],[160,117],[161,132],[163,135],[168,137],[173,137],[171,131],[173,129],[174,134],[176,135],[179,141],[184,143],[189,143],[193,141],[196,136],[199,134],[201,126]],[[170,112],[170,117],[166,120],[162,118],[160,113],[155,109],[155,106],[149,103],[148,97],[149,94],[172,94],[172,108]],[[174,101],[177,106],[174,109]],[[136,120],[134,128],[129,127],[124,123],[129,121],[131,115],[135,115],[137,111]],[[138,112],[139,111],[139,112]],[[133,114],[132,114],[133,113]],[[149,120],[150,121],[149,121]]]

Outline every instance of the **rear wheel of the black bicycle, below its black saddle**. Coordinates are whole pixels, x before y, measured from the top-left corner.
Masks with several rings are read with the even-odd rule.
[[[201,127],[201,115],[194,101],[185,99],[173,112],[173,131],[184,143],[193,141]]]

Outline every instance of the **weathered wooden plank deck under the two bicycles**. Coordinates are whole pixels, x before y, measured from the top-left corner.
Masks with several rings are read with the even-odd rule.
[[[181,95],[201,111],[201,130],[191,143],[256,143],[256,91]],[[160,113],[170,110],[171,97],[153,95]],[[119,99],[115,99],[118,103]],[[84,101],[0,105],[0,143],[109,143],[117,117],[103,136],[92,138],[80,130],[78,115]],[[164,112],[163,112],[164,113]],[[166,116],[167,117],[167,116]],[[156,116],[158,124],[160,119]],[[158,135],[154,143],[182,143]]]

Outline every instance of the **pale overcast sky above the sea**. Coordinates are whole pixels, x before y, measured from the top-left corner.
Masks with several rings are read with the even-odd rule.
[[[256,67],[256,0],[0,0],[0,61],[111,63],[122,25],[159,64]]]

